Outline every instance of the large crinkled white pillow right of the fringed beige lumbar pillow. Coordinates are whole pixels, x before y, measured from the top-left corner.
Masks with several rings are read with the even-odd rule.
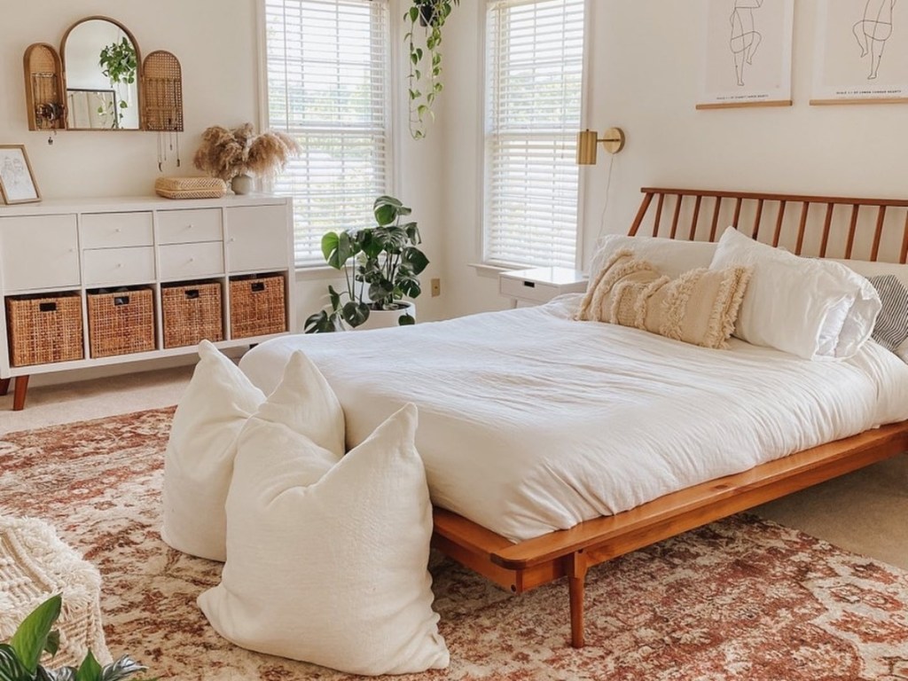
[[[799,258],[729,227],[710,265],[754,268],[735,336],[806,360],[852,357],[873,333],[880,298],[837,262]]]

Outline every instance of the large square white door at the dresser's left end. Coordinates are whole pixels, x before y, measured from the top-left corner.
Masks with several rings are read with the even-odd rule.
[[[75,215],[0,217],[0,275],[5,292],[78,286]]]

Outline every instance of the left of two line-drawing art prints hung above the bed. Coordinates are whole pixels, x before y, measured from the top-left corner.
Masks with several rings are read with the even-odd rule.
[[[697,109],[791,106],[795,0],[704,0]]]

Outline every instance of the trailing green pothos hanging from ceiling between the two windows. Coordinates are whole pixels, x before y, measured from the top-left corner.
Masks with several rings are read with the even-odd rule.
[[[404,40],[410,47],[410,135],[414,140],[426,136],[426,119],[434,120],[432,105],[441,94],[441,28],[460,0],[411,0],[412,5],[403,16],[410,22]],[[426,46],[415,41],[417,23],[426,30]]]

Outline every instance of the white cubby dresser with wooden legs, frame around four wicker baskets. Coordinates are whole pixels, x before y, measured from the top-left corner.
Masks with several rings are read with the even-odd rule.
[[[194,353],[194,344],[170,347],[164,341],[162,291],[183,283],[209,288],[219,284],[214,287],[221,294],[222,340],[215,343],[219,347],[251,345],[279,335],[273,329],[242,338],[232,333],[231,291],[255,277],[281,282],[281,328],[294,330],[291,211],[290,199],[255,195],[0,205],[0,299],[4,303],[0,306],[0,394],[15,379],[14,409],[22,409],[28,377],[33,374]],[[153,296],[153,348],[97,356],[89,333],[88,297],[137,289],[146,291],[145,296],[151,291]],[[81,300],[81,358],[14,361],[8,306],[58,295]]]

